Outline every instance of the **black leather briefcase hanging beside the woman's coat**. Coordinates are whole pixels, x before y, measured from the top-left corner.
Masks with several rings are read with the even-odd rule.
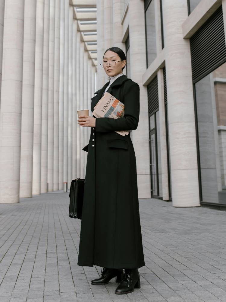
[[[69,217],[82,219],[83,193],[85,179],[76,178],[71,182]]]

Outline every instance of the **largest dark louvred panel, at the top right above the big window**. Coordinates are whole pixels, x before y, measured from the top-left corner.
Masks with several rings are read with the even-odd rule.
[[[193,83],[226,62],[222,5],[190,38]]]

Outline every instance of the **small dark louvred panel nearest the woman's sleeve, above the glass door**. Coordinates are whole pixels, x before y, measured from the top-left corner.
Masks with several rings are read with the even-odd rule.
[[[158,93],[158,78],[155,78],[148,84],[148,115],[159,110],[159,93]]]

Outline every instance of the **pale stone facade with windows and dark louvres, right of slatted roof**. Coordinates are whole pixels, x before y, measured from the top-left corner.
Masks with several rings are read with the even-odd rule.
[[[97,0],[97,85],[103,54],[127,56],[140,85],[131,132],[139,198],[175,207],[226,205],[226,1]],[[100,33],[100,35],[99,35]]]

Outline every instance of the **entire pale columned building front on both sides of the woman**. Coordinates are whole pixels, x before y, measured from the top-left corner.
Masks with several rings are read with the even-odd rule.
[[[85,178],[109,47],[140,85],[139,198],[226,206],[226,0],[0,0],[0,203]]]

